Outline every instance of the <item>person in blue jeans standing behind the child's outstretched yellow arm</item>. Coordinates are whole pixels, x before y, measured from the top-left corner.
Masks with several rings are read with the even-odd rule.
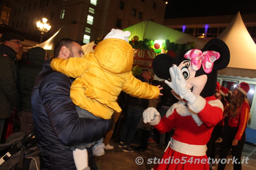
[[[151,72],[148,69],[141,70],[139,76],[136,76],[142,82],[147,82],[151,78]],[[143,111],[148,108],[148,99],[139,99],[128,95],[128,106],[126,118],[124,125],[121,131],[120,144],[119,148],[122,148],[123,152],[133,152],[133,149],[130,147],[132,139],[142,117]]]

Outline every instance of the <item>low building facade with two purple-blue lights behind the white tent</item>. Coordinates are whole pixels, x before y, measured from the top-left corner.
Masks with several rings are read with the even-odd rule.
[[[209,41],[212,38],[216,38],[230,24],[235,16],[236,15],[171,18],[165,19],[164,25]],[[241,14],[241,17],[253,41],[256,42],[256,13]]]

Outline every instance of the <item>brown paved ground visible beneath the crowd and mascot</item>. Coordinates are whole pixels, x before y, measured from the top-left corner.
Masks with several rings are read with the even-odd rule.
[[[161,158],[164,153],[164,144],[149,143],[148,149],[144,152],[134,151],[132,153],[125,153],[121,148],[118,148],[118,143],[113,140],[110,142],[115,148],[113,150],[105,150],[105,155],[95,157],[95,161],[99,170],[148,170],[154,167],[154,164],[147,164],[148,159]],[[132,147],[136,147],[136,141],[133,142]],[[135,160],[138,157],[144,159],[144,163],[141,165],[136,164]],[[216,150],[216,158],[219,157],[219,148]],[[228,154],[228,158],[231,158],[231,152]],[[243,170],[255,170],[256,169],[256,147],[248,144],[244,145],[242,158],[248,157],[248,164],[243,164]],[[226,165],[226,170],[233,169],[231,163]]]

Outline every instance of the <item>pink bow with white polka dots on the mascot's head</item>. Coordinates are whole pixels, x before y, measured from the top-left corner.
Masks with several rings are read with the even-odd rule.
[[[185,55],[185,58],[191,61],[192,70],[199,70],[202,63],[204,72],[212,72],[213,62],[220,58],[220,53],[216,51],[202,51],[200,49],[191,49]]]

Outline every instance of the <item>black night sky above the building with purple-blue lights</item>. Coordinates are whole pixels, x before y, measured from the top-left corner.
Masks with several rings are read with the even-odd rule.
[[[164,18],[256,13],[256,0],[168,0]]]

